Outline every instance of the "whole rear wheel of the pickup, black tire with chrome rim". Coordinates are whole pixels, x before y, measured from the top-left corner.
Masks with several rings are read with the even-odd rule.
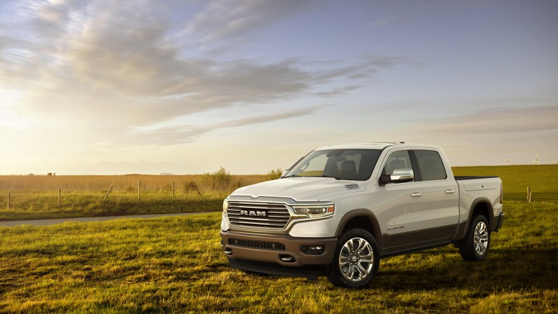
[[[473,216],[467,237],[459,242],[459,253],[463,260],[478,262],[484,260],[490,248],[490,226],[483,215]]]

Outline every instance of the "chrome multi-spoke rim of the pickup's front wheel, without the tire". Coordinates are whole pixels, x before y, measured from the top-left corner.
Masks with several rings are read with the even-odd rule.
[[[339,269],[347,281],[363,281],[374,266],[372,246],[362,238],[349,239],[339,253]]]

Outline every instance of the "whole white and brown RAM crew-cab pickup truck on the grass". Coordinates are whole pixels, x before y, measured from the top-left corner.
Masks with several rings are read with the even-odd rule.
[[[502,181],[453,177],[439,147],[346,144],[235,190],[220,236],[233,268],[362,288],[384,257],[455,244],[483,260],[503,220]]]

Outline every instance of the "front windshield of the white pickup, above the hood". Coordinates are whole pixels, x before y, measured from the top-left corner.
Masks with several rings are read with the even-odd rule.
[[[332,177],[364,181],[370,178],[381,151],[377,149],[329,149],[312,151],[285,177]]]

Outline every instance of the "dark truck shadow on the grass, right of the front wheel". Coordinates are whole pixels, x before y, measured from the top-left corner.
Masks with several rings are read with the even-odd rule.
[[[391,257],[398,258],[398,257]],[[486,260],[465,262],[458,253],[425,251],[382,260],[370,289],[556,289],[558,248],[490,249]],[[440,260],[440,262],[436,262]],[[407,262],[408,261],[408,262]]]

